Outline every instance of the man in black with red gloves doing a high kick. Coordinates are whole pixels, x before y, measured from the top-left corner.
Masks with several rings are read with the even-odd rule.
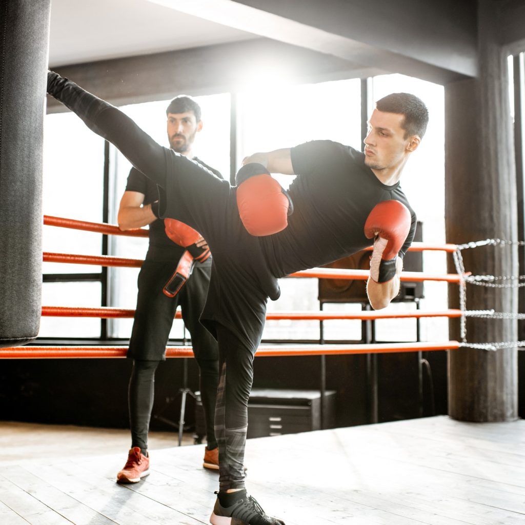
[[[238,185],[231,186],[163,148],[120,110],[74,82],[49,72],[47,91],[159,186],[162,217],[190,225],[207,240],[212,276],[201,322],[217,339],[220,374],[219,492],[210,521],[283,525],[247,496],[244,484],[247,405],[266,302],[279,297],[279,278],[353,254],[374,236],[367,283],[372,307],[384,308],[397,295],[402,259],[416,227],[399,180],[425,133],[425,105],[407,93],[389,95],[370,118],[365,153],[330,141],[256,153],[245,159]],[[298,175],[288,194],[271,172]]]

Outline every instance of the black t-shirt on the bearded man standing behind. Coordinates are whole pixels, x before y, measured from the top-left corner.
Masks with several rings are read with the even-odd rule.
[[[205,166],[219,178],[223,176],[213,167],[208,166],[196,157],[193,158],[199,164]],[[126,183],[127,192],[139,192],[144,194],[144,205],[151,204],[159,199],[158,186],[146,177],[142,172],[132,167]],[[165,233],[164,219],[154,220],[150,224],[150,244],[146,259],[158,261],[172,261],[182,257],[184,248],[174,243]]]

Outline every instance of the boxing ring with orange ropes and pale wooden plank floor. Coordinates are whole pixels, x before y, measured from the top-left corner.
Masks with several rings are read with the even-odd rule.
[[[84,223],[45,217],[45,224],[74,227],[107,235],[146,237],[147,230],[120,232],[108,224]],[[522,314],[469,311],[464,289],[474,286],[521,286],[521,277],[470,276],[461,268],[456,245],[416,243],[412,250],[440,250],[457,259],[457,274],[404,272],[401,279],[434,280],[458,287],[461,308],[411,312],[279,311],[267,320],[361,320],[448,318],[464,323],[469,317],[523,318]],[[459,255],[458,255],[459,253]],[[139,259],[111,256],[45,253],[45,261],[102,266],[140,267]],[[366,270],[316,268],[294,278],[366,279]],[[518,281],[518,282],[516,282]],[[477,283],[481,283],[478,285]],[[462,291],[463,290],[463,291]],[[43,306],[43,317],[132,318],[134,310],[117,307]],[[180,319],[181,313],[176,312]],[[427,351],[457,351],[465,346],[488,352],[522,342],[469,343],[465,328],[462,341],[424,341],[371,344],[263,344],[256,353],[264,356],[320,356]],[[3,359],[124,358],[127,346],[28,345],[0,349]],[[191,358],[191,346],[168,346],[167,358]],[[321,382],[322,382],[321,362]],[[321,393],[324,384],[321,383]],[[278,514],[287,525],[333,523],[407,525],[432,523],[522,523],[522,491],[525,488],[522,454],[522,420],[482,425],[458,422],[446,416],[423,417],[318,432],[250,439],[246,451],[248,486],[254,489],[265,510]],[[89,445],[89,444],[88,444]],[[208,522],[217,478],[200,468],[201,446],[170,447],[152,452],[147,481],[120,486],[114,475],[122,454],[96,449],[87,456],[69,455],[45,460],[26,459],[8,464],[0,476],[5,507],[0,521],[18,523],[185,523]],[[304,461],[304,458],[308,461]],[[286,465],[286,468],[283,468]],[[78,472],[83,473],[82,476]],[[271,484],[268,484],[268,476]],[[439,501],[439,505],[436,505]],[[266,503],[267,502],[267,503]],[[42,521],[44,520],[44,521]],[[59,521],[62,520],[62,521]]]

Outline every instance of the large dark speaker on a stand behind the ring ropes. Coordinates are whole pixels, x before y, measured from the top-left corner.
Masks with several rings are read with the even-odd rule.
[[[423,239],[423,223],[417,222],[414,240]],[[357,253],[331,262],[323,268],[370,270],[370,251]],[[403,269],[405,271],[423,271],[423,253],[408,251],[405,255]],[[413,301],[423,299],[423,282],[402,281],[400,293],[394,301]],[[366,281],[360,279],[319,279],[319,300],[325,302],[364,302],[366,297]]]

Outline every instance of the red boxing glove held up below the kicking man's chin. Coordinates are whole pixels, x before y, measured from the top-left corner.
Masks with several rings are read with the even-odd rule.
[[[397,254],[403,246],[412,216],[399,201],[383,201],[374,206],[364,225],[367,238],[375,237],[370,257],[370,277],[375,282],[386,282],[396,274]]]

